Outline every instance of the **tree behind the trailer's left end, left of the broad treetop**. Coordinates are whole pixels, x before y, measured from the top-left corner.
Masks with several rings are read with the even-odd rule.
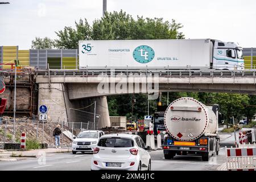
[[[64,27],[64,30],[55,32],[58,39],[55,40],[55,45],[59,49],[76,49],[79,46],[79,40],[90,40],[91,28],[86,19],[75,22],[76,28]]]

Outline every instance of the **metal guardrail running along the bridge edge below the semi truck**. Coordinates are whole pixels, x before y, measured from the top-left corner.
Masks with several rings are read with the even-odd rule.
[[[255,77],[256,69],[248,70],[219,70],[205,67],[98,67],[86,69],[47,69],[35,70],[36,75],[44,76],[154,76],[160,77]]]

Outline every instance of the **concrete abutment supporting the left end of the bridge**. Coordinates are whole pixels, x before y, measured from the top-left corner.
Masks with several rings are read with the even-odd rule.
[[[94,101],[96,101],[95,129],[110,126],[109,109],[106,96],[70,99],[68,85],[61,83],[39,84],[38,105],[48,107],[48,121],[77,122],[74,127],[93,129]],[[88,124],[87,124],[88,123]]]

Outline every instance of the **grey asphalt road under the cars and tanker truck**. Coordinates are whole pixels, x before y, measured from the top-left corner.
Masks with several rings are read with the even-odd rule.
[[[196,170],[208,171],[217,170],[221,164],[225,162],[225,146],[234,146],[233,134],[220,133],[220,152],[218,156],[212,156],[208,162],[201,159],[201,156],[175,156],[174,159],[166,160],[162,150],[150,151],[151,169],[155,170]],[[0,162],[0,170],[57,170],[57,171],[83,171],[90,170],[90,160],[92,154],[76,154],[71,153],[48,153],[46,161],[43,163],[41,158],[28,158],[13,162]]]

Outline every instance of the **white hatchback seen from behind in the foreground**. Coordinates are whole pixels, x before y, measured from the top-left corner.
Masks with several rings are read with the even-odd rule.
[[[94,148],[92,170],[151,170],[151,157],[138,135],[109,134],[100,138]]]

